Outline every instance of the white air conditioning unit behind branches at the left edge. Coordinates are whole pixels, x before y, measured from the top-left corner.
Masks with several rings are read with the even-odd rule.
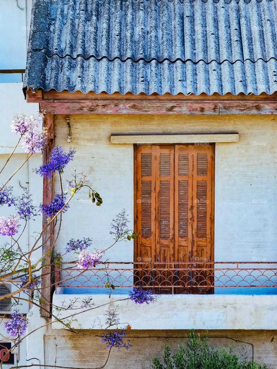
[[[0,284],[0,296],[5,296],[11,292],[15,292],[17,289],[18,287],[14,286],[12,283]],[[20,294],[16,294],[13,297],[0,300],[0,314],[12,314],[14,311],[17,311],[20,314],[27,314],[29,311],[28,301],[20,300],[18,297],[22,297],[26,300],[29,299],[28,294],[20,292]]]

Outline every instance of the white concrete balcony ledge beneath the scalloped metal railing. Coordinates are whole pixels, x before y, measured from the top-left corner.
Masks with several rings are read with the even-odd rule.
[[[93,309],[78,309],[89,296],[94,297]],[[73,327],[76,329],[80,329],[80,325],[81,329],[99,329],[100,322],[105,326],[105,312],[116,305],[120,322],[130,324],[132,330],[277,329],[277,295],[159,295],[157,301],[149,305],[124,300],[127,297],[127,294],[117,294],[109,299],[100,293],[60,293],[53,296],[53,304],[66,306],[77,299],[76,310],[61,311],[58,315],[61,319],[75,313],[77,321]],[[64,325],[52,318],[52,328],[62,329]]]

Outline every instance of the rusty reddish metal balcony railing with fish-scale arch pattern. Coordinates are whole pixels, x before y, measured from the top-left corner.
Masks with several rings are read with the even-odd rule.
[[[277,262],[106,262],[85,270],[69,263],[56,273],[56,287],[65,289],[98,289],[102,293],[112,285],[125,292],[141,286],[161,294],[212,294],[215,289],[241,287],[261,291],[277,287]]]

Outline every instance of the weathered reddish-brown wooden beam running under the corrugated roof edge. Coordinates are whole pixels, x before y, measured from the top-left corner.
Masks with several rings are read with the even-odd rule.
[[[277,114],[277,93],[172,96],[27,90],[27,101],[45,114]]]

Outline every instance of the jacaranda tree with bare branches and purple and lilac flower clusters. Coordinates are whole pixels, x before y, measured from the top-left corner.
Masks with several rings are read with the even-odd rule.
[[[0,216],[0,237],[4,236],[2,242],[0,242],[0,285],[11,283],[15,286],[13,291],[2,293],[0,300],[11,301],[11,306],[18,305],[20,301],[30,300],[31,304],[43,309],[45,297],[41,293],[42,272],[65,267],[63,256],[68,253],[72,254],[72,261],[76,261],[78,268],[81,269],[80,273],[83,273],[84,269],[95,268],[100,263],[105,268],[105,252],[120,241],[136,238],[137,234],[129,229],[126,211],[122,210],[112,220],[110,234],[113,236],[113,243],[111,245],[107,245],[102,249],[95,248],[95,251],[89,252],[88,249],[93,247],[92,238],[84,234],[83,238],[75,239],[72,234],[65,246],[64,254],[60,255],[57,253],[55,246],[62,228],[62,214],[68,210],[71,201],[74,201],[75,194],[82,191],[82,195],[88,196],[92,204],[96,204],[96,206],[101,206],[103,200],[100,194],[93,190],[85,173],[77,173],[76,170],[73,170],[70,178],[62,178],[65,166],[74,158],[75,149],[70,148],[68,152],[65,152],[60,146],[55,146],[52,149],[48,162],[42,163],[39,168],[34,169],[35,173],[42,177],[49,177],[54,174],[58,176],[60,183],[59,192],[54,195],[51,203],[42,203],[38,207],[35,206],[32,194],[28,190],[25,190],[20,196],[14,196],[13,187],[10,186],[11,179],[26,165],[32,155],[44,150],[47,131],[40,129],[41,121],[41,115],[35,117],[33,115],[18,114],[14,117],[11,129],[18,135],[18,142],[0,170],[0,206],[6,206],[10,210],[9,217]],[[13,168],[13,175],[5,177],[4,169],[12,163],[10,159],[20,144],[25,148],[27,158],[18,168]],[[67,186],[63,188],[63,183],[65,182]],[[40,215],[46,218],[47,224],[43,227],[41,226],[41,232],[34,236],[33,244],[30,246],[29,251],[26,251],[23,245],[21,245],[22,236],[27,229],[28,222],[35,220],[40,222],[40,224],[42,223]],[[76,219],[78,219],[77,215]],[[51,229],[50,234],[48,232],[49,229]],[[53,240],[47,253],[42,252],[45,244],[45,234],[47,234],[47,240]],[[34,259],[32,258],[33,253],[36,252],[37,255],[38,250],[41,250],[40,257],[35,262],[31,262]],[[108,277],[106,287],[110,289],[110,294],[116,288]],[[47,286],[44,286],[45,288]],[[136,287],[129,297],[126,298],[126,300],[128,299],[137,304],[149,304],[155,301],[156,297],[153,296],[150,290]],[[47,302],[51,304],[51,301]],[[65,304],[62,304],[62,306],[51,306],[52,317],[62,323],[65,329],[76,334],[79,333],[73,328],[75,313],[71,314],[70,311],[78,309],[78,302],[80,303],[78,299],[75,299],[74,301],[71,300],[67,306]],[[112,348],[115,347],[118,350],[120,348],[129,349],[131,346],[131,342],[127,339],[127,331],[131,329],[131,326],[130,324],[123,327],[120,326],[114,302],[116,301],[113,301],[113,305],[107,309],[105,314],[106,325],[101,331],[101,341],[108,349],[107,358],[103,366],[106,365]],[[81,309],[89,310],[97,307],[97,295],[86,299],[81,298]],[[10,308],[8,310],[11,310]],[[59,313],[61,313],[61,310],[68,311],[66,319],[60,318]],[[11,349],[7,349],[6,354],[8,354],[8,351],[13,351],[27,335],[35,334],[35,332],[30,331],[27,333],[28,317],[24,314],[19,314],[16,310],[11,315],[7,311],[4,318],[5,320],[8,318],[4,323],[2,322],[9,336],[6,338],[13,341]],[[1,365],[4,360],[5,355]],[[17,365],[15,368],[19,368],[19,366]]]

